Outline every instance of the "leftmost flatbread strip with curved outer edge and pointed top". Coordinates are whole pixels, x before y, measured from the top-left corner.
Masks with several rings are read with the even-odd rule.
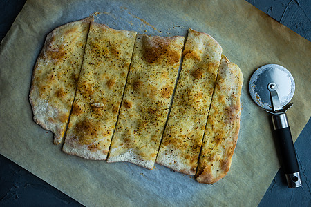
[[[75,97],[88,28],[93,17],[55,28],[35,64],[29,100],[33,119],[62,142]]]

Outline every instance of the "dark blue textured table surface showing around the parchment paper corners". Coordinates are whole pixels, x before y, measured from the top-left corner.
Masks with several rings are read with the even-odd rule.
[[[310,0],[247,1],[311,41]],[[1,40],[25,2],[25,0],[0,1]],[[311,119],[295,143],[303,186],[289,189],[281,168],[259,206],[311,206],[310,138]],[[82,206],[82,204],[0,155],[0,206]]]

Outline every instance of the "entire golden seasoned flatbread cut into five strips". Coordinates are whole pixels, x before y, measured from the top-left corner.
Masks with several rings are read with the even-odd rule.
[[[69,122],[68,154],[149,169],[156,161],[201,183],[218,181],[238,139],[240,68],[209,34],[189,29],[183,52],[184,37],[136,34],[93,17],[55,28],[32,75],[34,120],[55,144]]]

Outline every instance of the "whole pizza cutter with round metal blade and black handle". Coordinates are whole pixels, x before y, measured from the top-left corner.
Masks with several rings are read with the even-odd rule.
[[[258,68],[249,81],[249,93],[258,106],[272,114],[276,143],[279,145],[285,177],[289,188],[301,186],[288,118],[285,112],[292,106],[295,82],[283,66],[268,64]],[[288,104],[289,103],[289,104]]]

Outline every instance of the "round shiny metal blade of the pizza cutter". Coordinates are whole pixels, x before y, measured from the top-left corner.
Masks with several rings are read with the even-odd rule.
[[[272,110],[270,91],[267,86],[276,83],[281,106],[285,106],[294,96],[295,82],[290,72],[283,66],[268,64],[258,68],[249,81],[249,93],[258,106]]]

